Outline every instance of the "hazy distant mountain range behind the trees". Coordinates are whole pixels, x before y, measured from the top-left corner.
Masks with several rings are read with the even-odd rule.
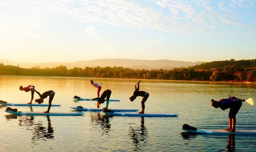
[[[7,65],[7,60],[0,59],[0,63]],[[145,69],[145,70],[153,70],[153,69],[166,69],[170,70],[173,68],[182,68],[188,66],[199,65],[202,62],[185,62],[185,61],[174,61],[174,60],[137,60],[137,59],[96,59],[89,61],[77,61],[77,62],[62,62],[62,63],[32,63],[32,62],[13,62],[8,61],[8,65],[19,66],[21,68],[32,68],[34,66],[40,66],[43,68],[54,68],[59,65],[64,65],[68,69],[78,67],[85,68],[89,67],[106,67],[106,66],[123,66],[124,68],[130,69]]]

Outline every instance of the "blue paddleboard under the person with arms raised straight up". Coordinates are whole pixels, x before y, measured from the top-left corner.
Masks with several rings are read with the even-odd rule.
[[[177,114],[139,114],[139,113],[125,113],[125,112],[104,112],[114,116],[130,116],[130,117],[177,117]]]

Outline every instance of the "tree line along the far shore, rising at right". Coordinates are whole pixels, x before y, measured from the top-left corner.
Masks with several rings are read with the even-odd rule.
[[[88,67],[67,69],[59,65],[55,68],[36,66],[31,69],[0,64],[0,75],[15,76],[63,76],[63,77],[99,77],[99,78],[132,78],[156,80],[186,81],[222,81],[222,82],[256,82],[256,59],[225,60],[202,63],[188,68],[172,70],[134,70],[122,66]]]

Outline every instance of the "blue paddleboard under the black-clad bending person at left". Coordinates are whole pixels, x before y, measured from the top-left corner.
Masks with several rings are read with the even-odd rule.
[[[12,113],[15,115],[30,115],[30,116],[79,116],[84,114],[84,112],[50,112],[50,113],[43,113],[43,112],[13,112],[13,111],[6,111],[8,113]]]

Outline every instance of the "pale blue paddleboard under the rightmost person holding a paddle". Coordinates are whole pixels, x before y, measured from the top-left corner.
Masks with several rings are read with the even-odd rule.
[[[236,135],[256,135],[256,130],[236,130],[235,132],[228,132],[226,130],[221,129],[212,129],[212,130],[187,130],[182,129],[185,131],[188,131],[190,133],[197,133],[197,134],[236,134]]]

